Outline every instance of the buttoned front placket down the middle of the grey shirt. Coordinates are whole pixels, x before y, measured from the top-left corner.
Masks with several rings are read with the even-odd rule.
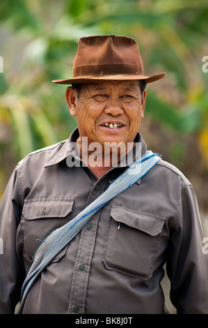
[[[90,192],[86,207],[88,204],[93,202],[93,200],[99,197],[103,191],[104,182],[102,181],[101,184],[99,181],[97,181],[95,186],[93,186],[92,191]],[[68,313],[85,313],[90,265],[95,248],[100,211],[102,211],[102,209],[97,211],[93,218],[91,218],[90,221],[81,230],[77,258],[74,264]]]

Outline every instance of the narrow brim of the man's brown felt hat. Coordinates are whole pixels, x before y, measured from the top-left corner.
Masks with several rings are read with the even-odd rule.
[[[102,82],[106,80],[145,80],[146,83],[151,83],[162,79],[166,73],[159,73],[156,75],[145,76],[145,75],[131,75],[131,74],[116,74],[116,75],[95,75],[95,76],[82,76],[74,77],[72,79],[61,79],[53,80],[53,83],[57,84],[78,84],[78,83],[92,83]]]

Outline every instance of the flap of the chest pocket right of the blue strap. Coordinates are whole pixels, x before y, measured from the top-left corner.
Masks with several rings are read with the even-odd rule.
[[[161,233],[166,220],[161,216],[130,210],[126,207],[111,207],[111,217],[117,222],[125,223],[129,227],[146,232],[151,236]]]

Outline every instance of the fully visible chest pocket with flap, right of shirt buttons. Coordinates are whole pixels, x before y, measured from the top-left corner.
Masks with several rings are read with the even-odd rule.
[[[112,207],[104,248],[107,269],[147,280],[157,255],[165,218]]]

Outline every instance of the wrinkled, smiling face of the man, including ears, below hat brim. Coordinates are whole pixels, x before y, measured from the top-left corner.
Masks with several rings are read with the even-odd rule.
[[[141,96],[138,81],[106,81],[83,84],[81,93],[67,89],[67,103],[77,116],[79,141],[134,142],[143,118],[146,91]]]

